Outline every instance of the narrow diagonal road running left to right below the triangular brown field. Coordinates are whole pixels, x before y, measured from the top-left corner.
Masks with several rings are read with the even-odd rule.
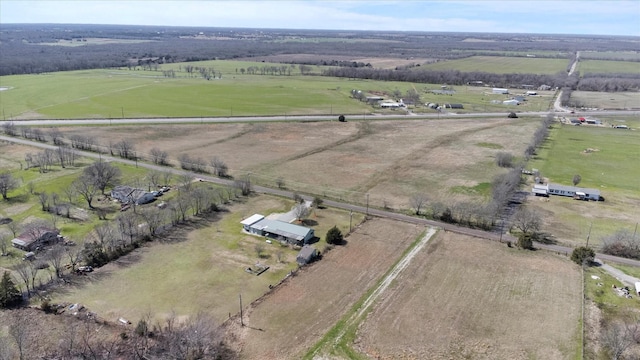
[[[73,120],[70,120],[70,121],[73,121]],[[56,146],[50,145],[50,144],[30,141],[30,140],[16,138],[16,137],[2,136],[2,135],[0,135],[0,141],[6,141],[6,142],[11,142],[11,143],[17,143],[17,144],[28,145],[28,146],[33,146],[33,147],[39,147],[39,148],[42,148],[42,149],[56,149],[57,148]],[[176,175],[190,174],[190,175],[193,175],[193,177],[195,177],[195,178],[201,179],[202,181],[212,182],[212,183],[221,184],[221,185],[233,186],[233,180],[221,179],[221,178],[218,178],[218,177],[208,176],[208,175],[204,175],[204,174],[190,173],[190,172],[183,171],[183,170],[180,170],[180,169],[175,169],[175,168],[172,168],[172,167],[159,166],[159,165],[149,164],[149,163],[144,163],[144,162],[137,162],[137,161],[133,161],[133,160],[127,160],[127,159],[107,156],[107,155],[93,153],[93,152],[80,151],[80,150],[75,150],[75,149],[74,149],[74,151],[80,156],[85,156],[85,157],[89,157],[89,158],[95,158],[95,159],[99,158],[99,159],[102,159],[102,160],[105,160],[105,161],[120,162],[120,163],[125,163],[125,164],[129,164],[129,165],[134,165],[134,166],[147,168],[147,169],[150,169],[150,170],[156,170],[156,171],[162,171],[162,172],[171,172],[171,173],[176,174]],[[272,189],[272,188],[263,187],[263,186],[253,186],[252,190],[254,192],[256,192],[256,193],[276,195],[276,196],[282,196],[282,197],[286,197],[286,198],[292,198],[293,194],[294,194],[292,191],[286,191],[286,190],[280,190],[280,189]],[[311,196],[303,195],[302,197],[307,201],[313,200],[313,198]],[[330,207],[338,208],[338,209],[344,209],[344,210],[363,213],[363,214],[366,214],[367,216],[377,216],[377,217],[394,219],[394,220],[398,220],[398,221],[404,221],[404,222],[417,224],[417,225],[432,226],[432,227],[441,228],[441,229],[443,229],[445,231],[451,231],[451,232],[454,232],[454,233],[469,235],[469,236],[478,237],[478,238],[482,238],[482,239],[488,239],[488,240],[493,240],[493,241],[503,241],[503,242],[511,241],[512,243],[515,243],[515,241],[516,241],[516,238],[514,238],[513,236],[511,236],[509,234],[502,234],[502,236],[501,236],[501,234],[499,234],[499,233],[496,234],[496,233],[493,233],[493,232],[483,231],[483,230],[479,230],[479,229],[470,229],[470,228],[457,226],[457,225],[453,225],[453,224],[448,224],[448,223],[444,223],[444,222],[440,222],[440,221],[429,220],[429,219],[415,217],[415,216],[409,216],[409,215],[396,213],[396,212],[391,212],[391,211],[386,211],[386,210],[380,210],[380,209],[377,209],[377,208],[370,208],[370,207],[365,207],[365,206],[360,206],[360,205],[348,204],[348,203],[338,202],[338,201],[334,201],[334,200],[324,200],[323,204],[327,205],[327,206],[330,206]],[[548,250],[548,251],[552,251],[552,252],[555,252],[555,253],[558,253],[558,254],[567,255],[567,256],[569,256],[571,254],[571,252],[573,251],[573,248],[567,247],[567,246],[562,246],[562,245],[550,245],[550,244],[535,243],[535,247],[537,249]],[[599,259],[604,260],[604,261],[615,262],[615,263],[619,263],[619,264],[625,264],[625,265],[631,265],[631,266],[640,267],[640,261],[638,261],[638,260],[626,259],[626,258],[611,256],[611,255],[607,255],[607,254],[600,254],[600,253],[598,253],[596,256]]]

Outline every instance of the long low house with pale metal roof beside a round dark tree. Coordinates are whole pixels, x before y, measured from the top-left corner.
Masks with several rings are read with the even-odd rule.
[[[242,228],[250,234],[266,236],[291,244],[307,244],[315,237],[313,229],[284,221],[270,220],[260,214],[254,214],[240,223]]]

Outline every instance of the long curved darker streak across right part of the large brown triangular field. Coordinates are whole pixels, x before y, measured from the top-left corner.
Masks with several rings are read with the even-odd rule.
[[[491,129],[495,128],[495,127],[502,126],[505,123],[508,123],[508,121],[500,121],[500,122],[495,123],[495,124],[489,124],[489,125],[485,125],[485,126],[481,126],[481,127],[477,127],[477,128],[473,128],[473,129],[461,130],[461,131],[454,132],[454,133],[451,133],[451,134],[448,134],[448,135],[445,135],[445,136],[440,136],[440,137],[434,139],[433,141],[426,143],[420,149],[418,149],[418,150],[416,150],[416,151],[414,151],[412,153],[409,153],[408,155],[398,159],[397,161],[394,161],[393,164],[391,166],[388,166],[386,169],[383,169],[383,170],[380,170],[380,171],[376,172],[364,184],[362,184],[360,186],[357,186],[354,189],[351,189],[351,191],[367,193],[371,189],[373,189],[374,187],[378,186],[380,183],[383,183],[383,182],[386,182],[386,181],[390,181],[393,178],[396,178],[398,176],[398,174],[400,173],[400,170],[410,166],[411,163],[413,163],[416,160],[420,159],[421,157],[425,156],[426,154],[428,154],[433,149],[437,149],[439,147],[442,147],[442,146],[445,146],[447,144],[450,144],[453,141],[455,141],[458,138],[461,138],[463,136],[466,136],[466,135],[469,135],[469,134],[473,134],[473,133],[476,133],[476,132],[479,132],[479,131],[491,130]]]

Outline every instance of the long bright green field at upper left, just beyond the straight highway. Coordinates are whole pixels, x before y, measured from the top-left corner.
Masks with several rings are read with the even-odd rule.
[[[204,80],[189,75],[186,64],[215,69],[222,78]],[[255,115],[338,115],[381,110],[351,98],[350,91],[393,98],[394,91],[410,89],[421,93],[423,102],[462,103],[463,111],[544,111],[552,92],[530,97],[518,107],[492,104],[509,97],[487,93],[486,88],[459,87],[454,96],[433,95],[440,85],[349,80],[342,78],[292,75],[248,75],[237,72],[249,66],[281,66],[246,61],[204,61],[163,64],[151,70],[86,70],[0,77],[2,119],[30,118],[135,118],[135,117],[211,117]],[[163,76],[173,69],[175,78]],[[65,89],[65,91],[60,91]],[[416,112],[433,112],[422,106]]]

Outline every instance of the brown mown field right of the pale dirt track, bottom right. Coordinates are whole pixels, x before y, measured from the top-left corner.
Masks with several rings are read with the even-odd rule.
[[[575,359],[580,277],[567,259],[441,232],[375,305],[354,348],[376,359]]]

